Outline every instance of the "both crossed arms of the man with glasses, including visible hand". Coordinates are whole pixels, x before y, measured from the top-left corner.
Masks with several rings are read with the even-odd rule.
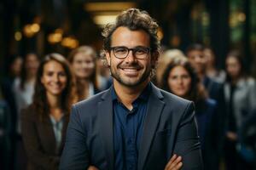
[[[172,156],[166,164],[165,170],[178,170],[181,167],[184,169],[202,169],[200,143],[193,111],[193,105],[189,105],[183,115],[174,147],[174,153],[177,155]],[[86,132],[82,127],[79,114],[73,108],[67,128],[67,141],[62,153],[60,169],[73,169],[73,167],[76,169],[96,169],[90,165],[85,141]],[[183,162],[181,156],[184,158]]]

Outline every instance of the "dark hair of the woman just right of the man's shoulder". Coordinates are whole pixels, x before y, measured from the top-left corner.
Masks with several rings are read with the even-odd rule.
[[[200,82],[200,79],[197,76],[193,66],[189,63],[189,60],[184,57],[172,59],[169,65],[167,65],[166,71],[163,74],[161,88],[172,93],[172,90],[168,85],[168,77],[172,69],[176,66],[182,66],[186,71],[189,72],[189,77],[191,77],[191,87],[189,89],[189,94],[187,95],[186,99],[194,101],[195,104],[207,99],[206,89]]]

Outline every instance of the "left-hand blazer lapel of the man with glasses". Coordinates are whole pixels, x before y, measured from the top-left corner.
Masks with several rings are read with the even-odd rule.
[[[113,169],[113,103],[110,89],[102,96],[102,102],[99,102],[97,107],[100,135],[108,160],[108,169]]]

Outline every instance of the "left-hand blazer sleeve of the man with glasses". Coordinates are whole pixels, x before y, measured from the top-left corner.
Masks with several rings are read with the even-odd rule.
[[[86,146],[86,132],[75,107],[72,108],[67,137],[61,156],[61,170],[79,170],[89,167],[89,152]]]

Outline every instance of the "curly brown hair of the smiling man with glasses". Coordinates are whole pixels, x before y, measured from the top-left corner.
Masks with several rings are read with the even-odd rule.
[[[129,28],[131,31],[143,30],[148,33],[150,40],[151,53],[154,54],[155,59],[158,59],[160,55],[160,40],[157,37],[157,32],[159,29],[156,21],[149,16],[149,14],[138,8],[129,8],[119,14],[112,24],[108,24],[104,27],[102,31],[102,36],[104,37],[102,58],[106,59],[106,54],[110,52],[111,48],[111,38],[113,31],[115,31],[120,26]],[[155,65],[153,65],[152,71],[154,72]]]

